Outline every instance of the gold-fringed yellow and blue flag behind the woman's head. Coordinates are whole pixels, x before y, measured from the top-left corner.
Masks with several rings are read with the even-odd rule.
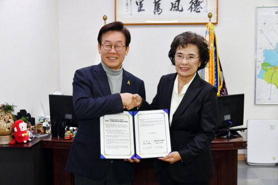
[[[210,21],[207,24],[206,40],[208,41],[209,45],[209,62],[207,66],[200,72],[201,78],[216,87],[217,96],[228,95],[218,56],[217,39],[214,32],[214,25]]]

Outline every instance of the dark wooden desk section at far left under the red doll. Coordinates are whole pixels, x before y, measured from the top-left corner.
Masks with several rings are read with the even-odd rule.
[[[41,140],[0,145],[0,185],[48,185]]]

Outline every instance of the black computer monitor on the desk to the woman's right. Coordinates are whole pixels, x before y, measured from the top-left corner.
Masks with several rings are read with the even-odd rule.
[[[243,125],[244,94],[218,96],[218,123],[216,137],[233,138],[230,127]]]

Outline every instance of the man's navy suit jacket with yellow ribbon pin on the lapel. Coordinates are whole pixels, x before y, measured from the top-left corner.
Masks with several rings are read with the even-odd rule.
[[[111,164],[111,160],[100,159],[99,118],[123,112],[122,99],[119,93],[111,94],[108,78],[101,63],[76,70],[72,86],[73,106],[79,123],[66,170],[99,180],[105,176]],[[145,98],[144,82],[123,69],[121,93],[139,94]],[[124,160],[113,160],[113,171],[118,183],[131,182],[134,164]]]

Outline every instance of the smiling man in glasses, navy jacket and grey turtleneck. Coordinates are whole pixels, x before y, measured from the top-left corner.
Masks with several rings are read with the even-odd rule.
[[[123,69],[129,51],[130,32],[121,22],[103,26],[98,35],[101,63],[76,70],[73,105],[79,118],[66,170],[75,175],[75,185],[131,185],[138,159],[100,159],[99,118],[133,110],[133,94],[145,98],[144,82]]]

